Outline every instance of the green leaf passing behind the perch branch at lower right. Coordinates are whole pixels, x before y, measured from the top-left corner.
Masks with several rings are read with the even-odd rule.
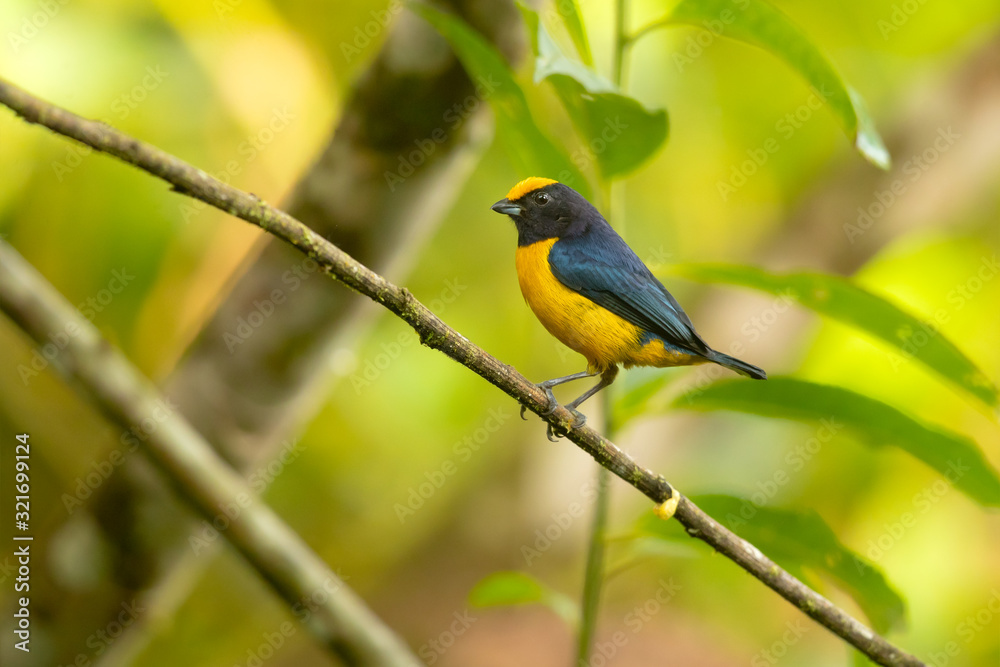
[[[785,569],[825,574],[858,603],[878,632],[905,625],[906,603],[885,575],[844,546],[816,512],[773,508],[727,495],[691,500]],[[640,530],[671,541],[685,539],[683,531],[671,527],[674,523],[649,513],[640,520]]]

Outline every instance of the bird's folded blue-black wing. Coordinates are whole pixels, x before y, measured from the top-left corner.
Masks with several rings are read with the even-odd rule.
[[[695,354],[711,352],[676,299],[607,223],[557,241],[549,266],[563,285],[632,324]]]

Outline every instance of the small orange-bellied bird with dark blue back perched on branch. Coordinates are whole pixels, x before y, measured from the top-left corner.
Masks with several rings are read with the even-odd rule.
[[[585,371],[538,385],[549,399],[543,414],[559,405],[553,387],[600,375],[566,404],[575,418],[572,428],[582,427],[587,418],[577,408],[615,381],[619,365],[715,363],[767,379],[762,369],[709,347],[663,283],[573,188],[532,176],[490,208],[510,216],[517,229],[515,266],[528,307],[550,334],[587,360]],[[524,411],[521,406],[522,418]],[[547,435],[555,441],[565,434],[550,424]]]

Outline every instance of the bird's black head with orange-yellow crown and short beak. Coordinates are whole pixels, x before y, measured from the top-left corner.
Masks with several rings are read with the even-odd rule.
[[[597,214],[580,193],[562,183],[550,183],[513,201],[501,199],[491,208],[514,221],[519,246],[571,236],[582,231],[591,215]]]

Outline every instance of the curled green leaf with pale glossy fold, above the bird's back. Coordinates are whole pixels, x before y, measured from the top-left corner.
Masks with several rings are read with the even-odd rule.
[[[566,107],[605,178],[626,174],[667,139],[667,112],[647,109],[578,60],[567,57],[538,14],[523,5],[535,51],[535,83],[548,80]]]

